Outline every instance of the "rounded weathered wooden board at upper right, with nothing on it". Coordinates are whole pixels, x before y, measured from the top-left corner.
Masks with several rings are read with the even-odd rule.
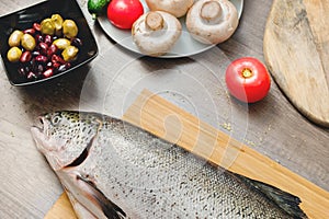
[[[279,87],[314,123],[329,127],[329,0],[274,0],[263,49]]]

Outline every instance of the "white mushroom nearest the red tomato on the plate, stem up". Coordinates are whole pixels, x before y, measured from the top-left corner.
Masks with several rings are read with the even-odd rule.
[[[163,11],[150,11],[133,24],[133,39],[138,49],[148,56],[168,53],[182,32],[179,20]]]

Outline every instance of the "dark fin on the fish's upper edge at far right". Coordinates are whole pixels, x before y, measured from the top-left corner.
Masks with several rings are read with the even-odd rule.
[[[235,175],[248,186],[261,192],[261,194],[263,194],[265,197],[274,201],[281,209],[283,209],[291,217],[295,219],[307,218],[305,212],[299,207],[302,200],[297,196],[294,196],[287,192],[284,192],[272,185],[262,183],[260,181],[254,181],[239,174],[235,174]]]

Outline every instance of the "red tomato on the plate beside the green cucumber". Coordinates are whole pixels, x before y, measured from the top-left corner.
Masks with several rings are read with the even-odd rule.
[[[112,0],[107,7],[107,19],[118,28],[132,28],[143,13],[139,0]]]

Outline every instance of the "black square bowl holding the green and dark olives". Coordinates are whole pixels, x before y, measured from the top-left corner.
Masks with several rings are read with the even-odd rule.
[[[7,53],[10,49],[8,38],[14,30],[31,28],[33,23],[41,23],[52,14],[58,13],[63,19],[71,19],[78,26],[78,37],[82,41],[78,57],[71,62],[71,67],[65,71],[55,73],[49,78],[27,80],[19,73],[19,64],[10,62]],[[12,85],[30,85],[60,77],[71,70],[91,61],[98,55],[98,45],[90,27],[83,16],[79,4],[75,0],[48,0],[26,9],[13,12],[0,18],[0,51],[8,79]]]

